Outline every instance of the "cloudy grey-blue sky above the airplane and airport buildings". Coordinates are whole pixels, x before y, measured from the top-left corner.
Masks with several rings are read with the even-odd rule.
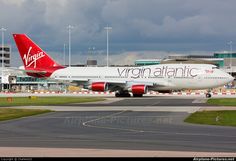
[[[236,43],[235,0],[0,0],[0,26],[7,28],[14,65],[21,64],[12,33],[26,33],[57,61],[63,61],[66,27],[72,30],[72,63],[83,63],[95,47],[106,55],[104,26],[110,33],[111,61],[131,63],[168,54],[212,54]]]

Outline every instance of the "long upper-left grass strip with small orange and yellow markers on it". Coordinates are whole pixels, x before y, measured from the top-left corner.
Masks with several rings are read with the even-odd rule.
[[[95,97],[0,97],[0,107],[10,106],[47,106],[70,103],[103,101]]]

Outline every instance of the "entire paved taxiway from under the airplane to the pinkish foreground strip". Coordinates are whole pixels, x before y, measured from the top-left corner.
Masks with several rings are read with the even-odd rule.
[[[0,145],[234,153],[235,127],[183,122],[189,113],[214,109],[205,102],[202,97],[144,97],[30,107],[56,112],[0,122]]]

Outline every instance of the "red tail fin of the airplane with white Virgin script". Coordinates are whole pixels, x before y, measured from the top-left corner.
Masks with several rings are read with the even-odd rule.
[[[44,77],[48,77],[53,71],[63,68],[25,34],[13,34],[13,37],[26,70],[46,71]]]

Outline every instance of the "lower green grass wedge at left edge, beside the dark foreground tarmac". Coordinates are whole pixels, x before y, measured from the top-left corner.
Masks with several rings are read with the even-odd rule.
[[[50,110],[0,108],[0,121],[51,112]]]

